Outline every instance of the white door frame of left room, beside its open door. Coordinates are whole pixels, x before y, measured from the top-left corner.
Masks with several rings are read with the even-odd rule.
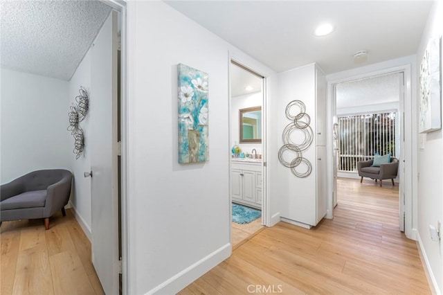
[[[118,204],[121,209],[121,251],[122,251],[122,261],[121,261],[121,272],[122,272],[122,291],[123,294],[131,294],[129,287],[129,226],[128,226],[128,169],[127,169],[127,159],[128,159],[128,124],[127,124],[127,101],[128,101],[128,91],[127,91],[127,73],[128,73],[128,48],[127,46],[127,3],[126,1],[120,0],[100,0],[107,6],[113,8],[114,10],[120,12],[120,177],[121,177],[121,202]]]

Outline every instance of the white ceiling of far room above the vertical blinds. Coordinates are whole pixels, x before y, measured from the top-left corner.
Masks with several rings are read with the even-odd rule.
[[[386,102],[398,102],[400,95],[399,73],[379,75],[336,86],[336,108],[361,107]]]

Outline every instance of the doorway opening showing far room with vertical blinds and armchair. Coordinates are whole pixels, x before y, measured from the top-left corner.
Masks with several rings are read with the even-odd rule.
[[[334,214],[359,208],[362,222],[404,231],[404,72],[337,83],[333,91]]]

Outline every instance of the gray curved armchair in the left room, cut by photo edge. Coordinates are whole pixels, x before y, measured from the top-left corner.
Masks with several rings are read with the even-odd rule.
[[[49,229],[49,217],[68,204],[72,173],[69,170],[37,170],[0,186],[0,220],[32,220],[44,218]],[[0,223],[1,224],[1,223]]]

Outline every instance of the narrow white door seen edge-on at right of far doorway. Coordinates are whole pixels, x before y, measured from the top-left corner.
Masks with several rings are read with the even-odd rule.
[[[405,186],[404,186],[404,166],[405,166],[405,157],[404,157],[404,125],[405,125],[405,116],[404,116],[404,73],[399,73],[399,102],[400,102],[400,111],[399,111],[399,136],[400,136],[400,157],[399,158],[399,170],[398,170],[398,176],[399,176],[399,226],[400,231],[404,231],[404,203],[405,203]]]

